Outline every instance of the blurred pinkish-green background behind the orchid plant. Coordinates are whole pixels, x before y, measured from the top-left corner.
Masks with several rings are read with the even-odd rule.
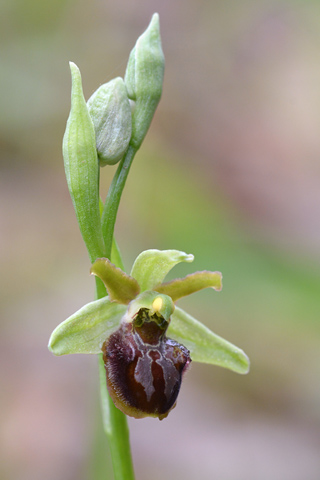
[[[163,97],[116,236],[128,270],[147,248],[195,255],[174,277],[220,270],[221,293],[180,305],[252,367],[193,364],[165,421],[130,419],[137,480],[318,480],[320,2],[308,0],[1,1],[0,478],[113,478],[97,359],[47,350],[94,295],[61,154],[68,61],[89,98],[124,75],[155,11]]]

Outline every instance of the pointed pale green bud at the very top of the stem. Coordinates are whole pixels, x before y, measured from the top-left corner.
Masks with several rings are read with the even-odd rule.
[[[124,78],[128,96],[135,101],[130,144],[136,149],[140,147],[159,103],[163,75],[159,15],[155,13],[130,53]]]

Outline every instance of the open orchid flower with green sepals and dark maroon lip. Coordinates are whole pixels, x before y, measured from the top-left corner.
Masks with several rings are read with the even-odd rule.
[[[108,296],[88,303],[52,333],[55,355],[103,353],[107,386],[116,407],[135,418],[165,418],[176,405],[182,376],[191,360],[247,373],[249,360],[238,347],[214,334],[175,303],[204,288],[222,288],[220,272],[202,271],[164,282],[193,255],[146,250],[130,275],[107,258],[91,274]]]

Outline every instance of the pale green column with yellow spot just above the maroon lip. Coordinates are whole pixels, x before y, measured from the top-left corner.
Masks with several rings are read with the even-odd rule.
[[[137,298],[130,302],[123,320],[129,323],[132,322],[141,308],[147,308],[150,315],[156,313],[169,322],[170,317],[174,312],[175,305],[168,295],[148,290],[142,292]]]

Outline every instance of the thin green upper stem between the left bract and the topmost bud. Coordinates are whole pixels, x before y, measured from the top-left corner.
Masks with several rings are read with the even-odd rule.
[[[117,212],[120,198],[125,186],[127,176],[131,167],[132,160],[137,152],[137,148],[129,145],[123,159],[119,163],[118,169],[111,182],[106,203],[102,213],[102,234],[106,246],[105,254],[110,259],[114,226],[116,223]]]

